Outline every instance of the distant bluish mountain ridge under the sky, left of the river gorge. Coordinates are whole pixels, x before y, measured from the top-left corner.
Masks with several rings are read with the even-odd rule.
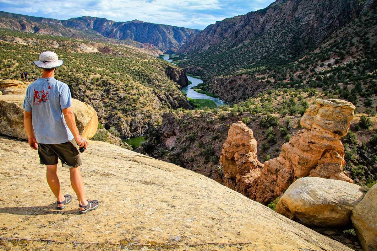
[[[64,37],[133,40],[152,44],[164,53],[176,52],[191,36],[200,32],[196,29],[139,20],[116,22],[89,16],[57,20],[3,11],[0,11],[0,27]]]

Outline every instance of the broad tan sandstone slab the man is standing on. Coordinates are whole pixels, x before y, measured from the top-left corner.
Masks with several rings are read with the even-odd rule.
[[[98,209],[85,216],[78,215],[76,203],[55,210],[55,198],[40,175],[45,167],[39,165],[37,151],[26,142],[0,137],[1,246],[351,250],[176,165],[100,141],[89,141],[82,158],[86,193],[100,201]],[[72,194],[69,175],[59,175],[64,193]],[[61,224],[62,220],[72,224]]]

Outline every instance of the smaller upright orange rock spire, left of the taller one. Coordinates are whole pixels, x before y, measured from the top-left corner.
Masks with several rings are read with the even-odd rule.
[[[224,169],[224,185],[242,194],[261,175],[263,164],[257,160],[257,141],[253,131],[242,121],[230,127],[220,163]]]

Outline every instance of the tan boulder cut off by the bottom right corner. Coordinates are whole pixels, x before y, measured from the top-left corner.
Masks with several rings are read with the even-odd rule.
[[[377,250],[377,184],[352,210],[352,224],[365,251]]]

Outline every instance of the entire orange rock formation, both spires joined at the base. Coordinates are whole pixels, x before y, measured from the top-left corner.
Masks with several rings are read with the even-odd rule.
[[[353,183],[343,172],[344,147],[340,138],[347,134],[354,117],[354,110],[355,106],[344,100],[317,99],[316,104],[310,106],[300,120],[300,125],[306,129],[300,130],[289,143],[285,143],[279,157],[266,161],[262,170],[257,170],[261,165],[254,164],[259,163],[256,162],[255,151],[253,155],[255,160],[250,158],[249,166],[255,167],[253,174],[257,172],[261,174],[251,177],[243,171],[246,170],[243,166],[248,166],[248,163],[244,163],[247,159],[243,158],[244,161],[240,164],[240,161],[236,161],[236,157],[232,162],[231,154],[227,154],[237,149],[232,147],[233,144],[244,149],[241,140],[245,137],[234,135],[234,128],[243,128],[246,125],[240,126],[235,125],[239,123],[234,123],[229,130],[221,155],[224,168],[222,183],[263,204],[282,195],[300,177],[316,176]],[[250,134],[253,134],[252,131]],[[232,143],[233,140],[235,143]],[[247,143],[248,139],[245,142]]]

